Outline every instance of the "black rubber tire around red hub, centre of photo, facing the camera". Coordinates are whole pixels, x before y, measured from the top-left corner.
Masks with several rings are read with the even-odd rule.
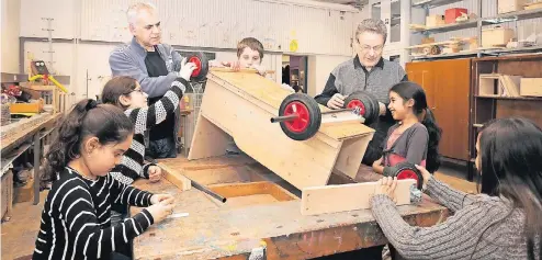
[[[309,123],[307,128],[304,132],[301,133],[294,133],[291,132],[287,127],[285,122],[281,122],[281,128],[284,134],[286,134],[287,137],[294,139],[294,140],[306,140],[313,137],[316,133],[318,133],[318,129],[320,128],[321,124],[321,112],[320,108],[318,106],[318,103],[310,98],[310,95],[305,94],[305,93],[293,93],[286,97],[279,109],[279,115],[282,116],[284,115],[284,110],[286,109],[286,105],[290,104],[293,101],[298,101],[303,103],[308,111],[309,115]]]

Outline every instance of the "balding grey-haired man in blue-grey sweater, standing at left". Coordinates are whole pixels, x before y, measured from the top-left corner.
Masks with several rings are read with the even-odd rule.
[[[110,56],[113,76],[129,76],[136,79],[149,104],[160,100],[179,77],[182,57],[171,46],[161,43],[158,12],[148,3],[135,3],[127,11],[132,42],[118,46]],[[166,121],[149,133],[148,151],[151,158],[177,157],[177,136],[180,114],[168,115]]]

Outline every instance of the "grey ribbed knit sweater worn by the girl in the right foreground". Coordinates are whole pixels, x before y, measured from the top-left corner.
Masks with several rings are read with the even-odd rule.
[[[403,221],[387,195],[371,201],[376,222],[404,258],[528,259],[523,212],[506,199],[466,194],[434,178],[426,191],[455,214],[432,227],[416,227]],[[534,259],[540,260],[540,244],[534,242]]]

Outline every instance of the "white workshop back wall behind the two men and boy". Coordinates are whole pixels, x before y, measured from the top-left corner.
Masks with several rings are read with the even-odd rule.
[[[132,37],[127,31],[125,10],[136,1],[20,1],[21,12],[24,12],[20,35],[32,39],[24,44],[25,57],[30,53],[34,58],[46,61],[53,59],[53,71],[71,76],[70,90],[77,99],[87,94],[93,98],[100,93],[103,82],[111,75],[108,63],[110,52]],[[282,78],[282,53],[321,56],[321,60],[329,63],[317,63],[314,69],[327,70],[321,75],[328,75],[332,68],[327,68],[338,64],[334,60],[346,60],[352,56],[353,24],[361,21],[358,10],[351,7],[308,0],[150,2],[159,10],[166,43],[180,48],[205,47],[205,50],[216,53],[217,59],[232,60],[236,58],[237,41],[249,35],[256,36],[264,44],[266,50],[271,50],[266,54],[263,65],[275,70],[279,81]],[[211,3],[217,5],[211,8]],[[44,5],[44,9],[32,8],[37,4]],[[55,9],[53,5],[63,8]],[[250,12],[240,11],[241,8]],[[53,55],[43,52],[48,49],[46,43],[34,41],[47,37],[46,30],[53,30]],[[294,39],[297,49],[295,44],[291,48]],[[316,92],[320,84],[319,81],[317,86],[309,84],[309,91]]]

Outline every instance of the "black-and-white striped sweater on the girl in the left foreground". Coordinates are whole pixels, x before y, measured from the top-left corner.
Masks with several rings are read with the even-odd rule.
[[[146,207],[151,196],[110,174],[88,180],[66,167],[45,201],[33,259],[109,259],[115,248],[126,246],[154,222],[143,210],[111,226],[111,205]]]

